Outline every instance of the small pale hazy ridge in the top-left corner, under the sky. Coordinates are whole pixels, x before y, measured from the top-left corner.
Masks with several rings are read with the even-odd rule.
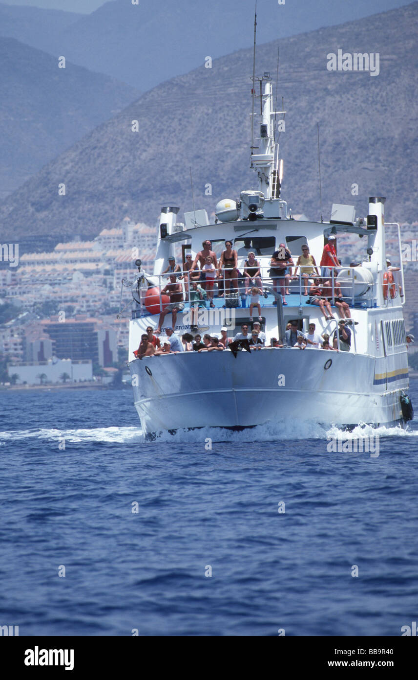
[[[56,43],[53,37],[82,16],[77,12],[0,3],[0,36],[16,38],[39,50],[54,52]]]

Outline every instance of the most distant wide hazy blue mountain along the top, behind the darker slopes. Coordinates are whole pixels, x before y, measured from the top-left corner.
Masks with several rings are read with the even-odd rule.
[[[401,4],[402,0],[281,0],[280,4],[278,0],[258,0],[258,41],[261,44],[340,24]],[[3,22],[0,35],[10,35],[54,56],[64,55],[77,65],[144,92],[199,67],[206,56],[218,58],[250,47],[254,5],[254,0],[138,0],[137,5],[131,0],[113,0],[78,17],[10,7],[7,12],[13,16],[10,30],[14,32],[7,33],[9,24]],[[17,16],[22,34],[16,33]],[[1,18],[0,11],[0,25]]]

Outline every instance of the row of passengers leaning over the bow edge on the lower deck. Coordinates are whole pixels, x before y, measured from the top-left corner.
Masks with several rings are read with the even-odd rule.
[[[340,319],[337,330],[333,333],[330,339],[328,333],[320,335],[316,332],[316,324],[309,322],[307,333],[300,330],[298,322],[289,322],[286,326],[283,342],[279,343],[278,339],[272,337],[267,343],[267,338],[263,330],[261,330],[261,323],[254,321],[252,324],[244,322],[241,330],[233,337],[228,337],[228,328],[223,326],[221,333],[205,333],[202,337],[200,333],[183,333],[178,337],[172,326],[166,327],[165,336],[155,335],[155,329],[152,326],[147,326],[147,332],[141,335],[140,345],[134,355],[138,359],[145,356],[160,356],[162,354],[177,354],[178,352],[222,352],[223,350],[232,350],[234,353],[237,350],[247,350],[248,352],[263,350],[267,347],[282,348],[291,347],[296,350],[332,350],[349,352],[352,341],[352,331],[349,325],[352,324],[351,319]],[[252,328],[250,328],[250,325]]]

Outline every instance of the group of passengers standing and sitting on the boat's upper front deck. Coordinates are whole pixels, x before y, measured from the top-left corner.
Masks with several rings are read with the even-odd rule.
[[[282,304],[287,305],[286,295],[290,294],[290,282],[300,277],[303,284],[303,296],[309,295],[308,302],[311,305],[318,305],[326,320],[335,318],[332,305],[337,308],[339,318],[349,319],[351,317],[349,304],[343,298],[337,279],[341,260],[337,258],[335,242],[335,236],[331,234],[328,243],[324,245],[320,270],[314,256],[309,252],[307,243],[301,245],[301,255],[296,263],[286,244],[280,243],[269,262],[271,290],[276,299],[280,294]],[[168,267],[162,273],[169,277],[170,283],[161,290],[161,294],[167,295],[170,302],[161,311],[155,329],[157,335],[161,333],[161,326],[170,312],[172,313],[172,327],[175,328],[177,313],[184,309],[185,302],[188,301],[193,310],[191,330],[197,330],[198,309],[206,307],[207,301],[209,307],[214,307],[215,293],[218,298],[223,298],[229,293],[239,294],[241,292],[245,296],[250,294],[250,321],[252,321],[254,310],[257,310],[259,320],[262,320],[260,296],[267,298],[267,290],[263,284],[261,262],[257,260],[254,252],[251,250],[248,252],[244,267],[240,271],[237,265],[238,253],[233,249],[232,241],[225,241],[225,250],[219,260],[211,248],[211,241],[203,241],[202,250],[197,253],[194,260],[191,253],[185,252],[183,269],[176,264],[174,256],[168,258]],[[295,267],[293,273],[292,267]],[[183,284],[180,283],[180,279],[183,279]],[[273,305],[277,305],[276,299]]]

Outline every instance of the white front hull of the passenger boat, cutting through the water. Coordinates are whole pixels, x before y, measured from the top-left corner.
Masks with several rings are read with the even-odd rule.
[[[145,434],[283,420],[394,424],[402,422],[400,392],[408,387],[407,372],[375,384],[374,357],[326,350],[267,349],[237,358],[187,352],[134,360],[130,371]]]

